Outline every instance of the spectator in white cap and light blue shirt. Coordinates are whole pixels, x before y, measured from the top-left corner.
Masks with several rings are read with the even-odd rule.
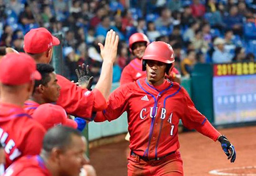
[[[232,61],[232,55],[228,53],[225,48],[225,40],[222,38],[216,38],[214,40],[215,51],[212,54],[213,63],[230,63]]]

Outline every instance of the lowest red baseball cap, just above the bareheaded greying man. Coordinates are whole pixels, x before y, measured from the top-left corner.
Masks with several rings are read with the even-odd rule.
[[[32,117],[41,123],[46,130],[57,125],[77,128],[77,123],[68,118],[66,111],[61,106],[51,103],[38,106]]]

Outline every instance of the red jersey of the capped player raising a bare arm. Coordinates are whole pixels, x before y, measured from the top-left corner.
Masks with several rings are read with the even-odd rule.
[[[102,111],[106,108],[106,99],[98,89],[89,91],[80,88],[58,74],[57,79],[61,90],[56,103],[63,107],[68,114],[92,120],[92,111]]]

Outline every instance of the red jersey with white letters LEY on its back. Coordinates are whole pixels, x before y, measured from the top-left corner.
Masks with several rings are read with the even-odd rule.
[[[24,155],[39,154],[45,129],[16,105],[0,103],[0,141],[6,168]]]

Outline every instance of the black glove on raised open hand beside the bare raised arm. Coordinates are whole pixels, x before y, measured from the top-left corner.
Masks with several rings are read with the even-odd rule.
[[[82,66],[79,65],[77,69],[75,69],[77,78],[78,78],[78,86],[81,88],[87,88],[91,90],[93,76],[90,76],[90,68],[89,65],[83,63]]]

